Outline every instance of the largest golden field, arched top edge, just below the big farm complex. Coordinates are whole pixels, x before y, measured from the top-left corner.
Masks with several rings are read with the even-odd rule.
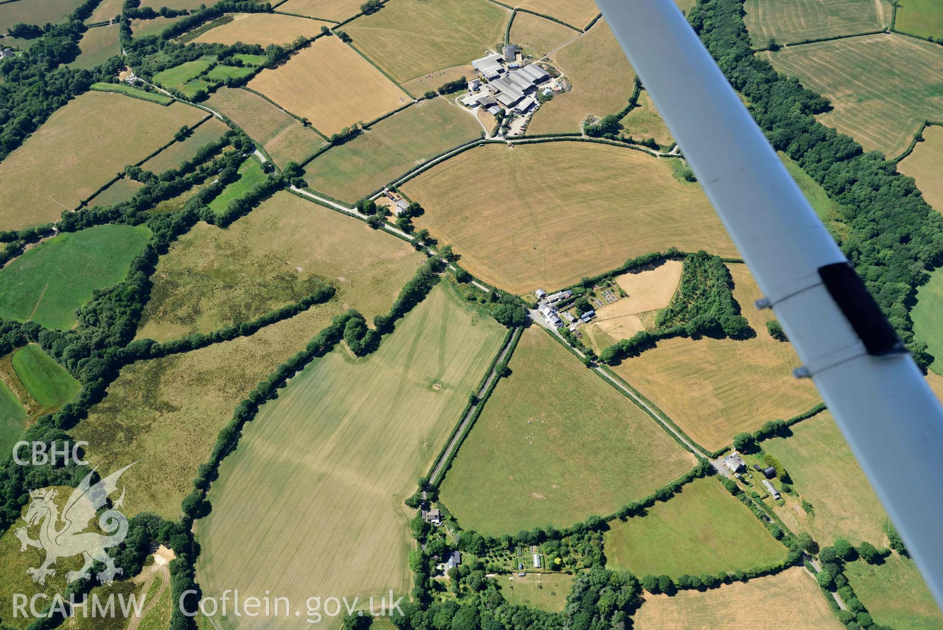
[[[470,273],[520,294],[672,245],[736,256],[700,186],[679,182],[667,162],[617,146],[485,144],[403,190],[425,208],[418,227],[451,243]]]

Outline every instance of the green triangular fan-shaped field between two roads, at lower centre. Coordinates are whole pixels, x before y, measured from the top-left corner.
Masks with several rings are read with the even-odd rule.
[[[694,466],[644,411],[537,326],[524,331],[509,366],[442,482],[442,502],[463,528],[500,536],[569,526]]]

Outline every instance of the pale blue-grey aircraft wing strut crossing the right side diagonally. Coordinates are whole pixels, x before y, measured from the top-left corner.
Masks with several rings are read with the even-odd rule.
[[[943,605],[943,408],[674,2],[597,4]]]

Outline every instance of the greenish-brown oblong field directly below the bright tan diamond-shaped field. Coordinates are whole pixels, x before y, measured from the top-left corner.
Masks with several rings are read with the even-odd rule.
[[[481,132],[468,112],[444,98],[422,101],[314,158],[305,178],[315,191],[353,203],[430,157],[476,140]]]

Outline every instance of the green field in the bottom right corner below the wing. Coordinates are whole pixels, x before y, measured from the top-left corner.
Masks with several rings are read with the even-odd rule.
[[[875,623],[894,630],[943,630],[943,614],[914,561],[893,553],[881,564],[856,560],[845,576]]]

